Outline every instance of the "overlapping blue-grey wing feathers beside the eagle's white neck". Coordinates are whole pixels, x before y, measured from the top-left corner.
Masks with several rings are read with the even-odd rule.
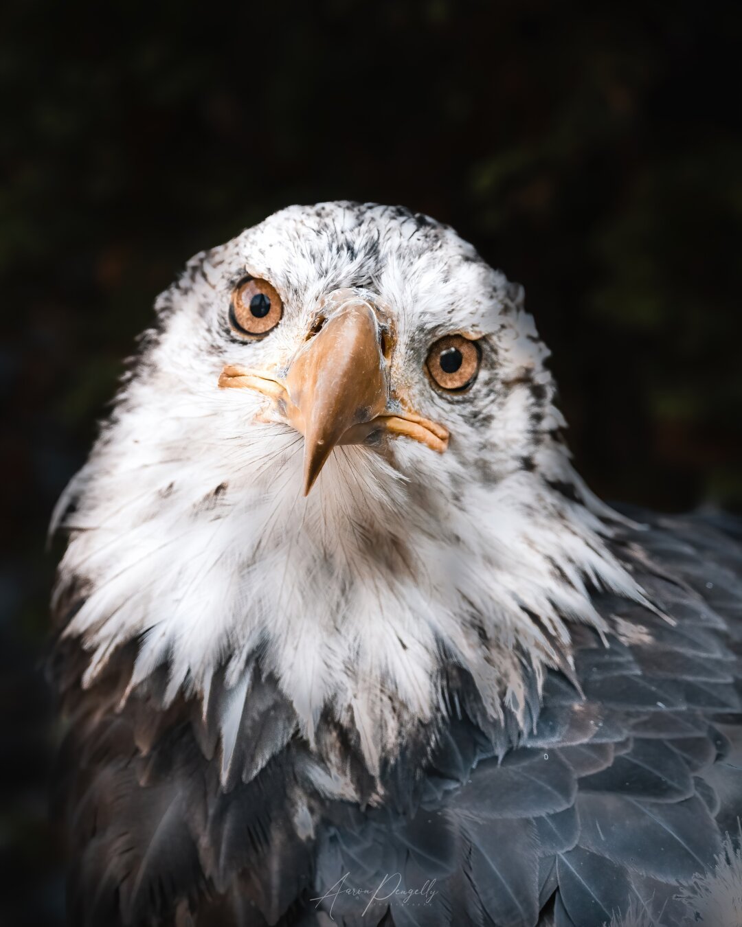
[[[493,738],[491,758],[474,746],[471,722],[480,734],[484,726],[467,706],[470,721],[452,721],[431,760],[422,806],[396,825],[406,845],[404,829],[421,815],[445,819],[454,860],[435,871],[451,922],[532,927],[549,909],[555,927],[585,927],[630,906],[658,924],[680,922],[678,886],[713,865],[736,820],[742,553],[700,520],[665,519],[630,540],[646,552],[633,563],[637,580],[671,620],[596,596],[636,639],[613,635],[607,648],[579,629],[582,693],[550,674],[535,729],[505,751]],[[381,835],[385,864],[397,858],[389,845]],[[416,866],[432,871],[423,855]],[[394,923],[438,922],[397,911],[390,906]]]

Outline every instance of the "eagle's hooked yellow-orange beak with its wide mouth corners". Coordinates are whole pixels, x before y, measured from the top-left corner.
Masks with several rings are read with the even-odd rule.
[[[336,445],[360,444],[374,432],[406,435],[445,451],[446,428],[391,400],[385,356],[390,332],[374,307],[342,290],[330,294],[323,308],[323,324],[294,356],[285,377],[231,364],[219,377],[220,387],[248,387],[275,400],[304,436],[304,495]]]

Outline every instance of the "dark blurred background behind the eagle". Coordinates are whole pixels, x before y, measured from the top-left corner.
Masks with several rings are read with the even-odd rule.
[[[200,248],[294,202],[403,203],[526,286],[582,474],[742,505],[736,3],[28,0],[0,27],[0,901],[54,924],[31,667],[59,491]]]

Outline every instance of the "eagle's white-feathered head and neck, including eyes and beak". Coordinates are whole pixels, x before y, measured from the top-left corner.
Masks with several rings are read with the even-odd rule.
[[[373,772],[454,671],[525,724],[568,619],[605,629],[588,587],[641,596],[522,288],[448,226],[291,207],[198,254],[157,313],[58,508],[83,684],[132,641],[127,692],[164,667],[165,702],[270,674],[308,743],[333,717]]]

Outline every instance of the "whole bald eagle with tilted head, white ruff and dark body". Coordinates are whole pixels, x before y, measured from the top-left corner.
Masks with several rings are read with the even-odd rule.
[[[156,310],[54,518],[70,923],[731,924],[742,531],[591,493],[522,288],[338,202]]]

